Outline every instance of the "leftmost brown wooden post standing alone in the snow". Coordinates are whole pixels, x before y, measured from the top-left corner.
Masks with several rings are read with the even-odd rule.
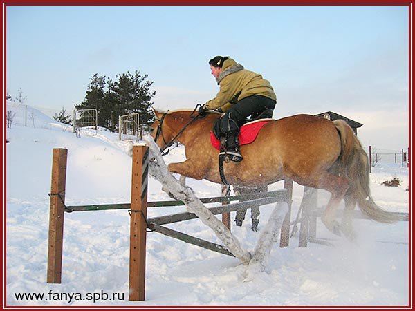
[[[64,211],[67,149],[53,149],[50,185],[48,283],[61,283],[62,248],[64,244]]]

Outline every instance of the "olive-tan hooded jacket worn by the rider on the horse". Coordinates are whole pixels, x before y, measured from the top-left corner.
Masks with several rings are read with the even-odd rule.
[[[257,73],[244,69],[232,58],[223,62],[222,72],[216,78],[216,82],[220,86],[219,93],[204,105],[209,110],[220,108],[223,112],[228,111],[232,104],[237,104],[239,100],[251,95],[263,95],[277,100],[268,80],[263,79]]]

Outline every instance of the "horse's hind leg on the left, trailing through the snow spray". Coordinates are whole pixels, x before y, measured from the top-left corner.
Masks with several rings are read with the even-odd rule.
[[[327,229],[333,232],[333,234],[340,236],[340,224],[335,220],[335,211],[349,188],[349,182],[344,177],[324,172],[322,173],[322,176],[320,176],[317,187],[331,193],[329,203],[322,214],[322,223],[324,223]]]

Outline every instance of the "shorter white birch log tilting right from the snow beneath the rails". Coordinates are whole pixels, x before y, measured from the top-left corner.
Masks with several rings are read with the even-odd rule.
[[[273,213],[268,220],[268,224],[264,229],[261,229],[261,236],[259,236],[254,253],[252,254],[252,259],[248,266],[248,270],[251,270],[252,273],[258,271],[264,272],[266,269],[269,254],[273,248],[273,244],[277,241],[287,212],[287,203],[277,202],[277,206],[274,208]]]

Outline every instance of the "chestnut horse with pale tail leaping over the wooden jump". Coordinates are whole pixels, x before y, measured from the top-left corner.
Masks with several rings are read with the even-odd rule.
[[[221,114],[207,113],[192,119],[194,111],[155,111],[151,135],[160,149],[169,142],[185,145],[184,162],[169,164],[169,171],[196,180],[221,183],[218,153],[210,143],[210,131]],[[392,223],[399,220],[371,198],[367,153],[343,120],[330,121],[313,115],[293,115],[268,122],[251,144],[241,146],[242,162],[223,163],[230,185],[261,187],[292,178],[299,185],[325,189],[331,198],[322,222],[333,233],[353,236],[352,212],[356,203],[371,219]],[[335,210],[344,198],[340,225]]]

